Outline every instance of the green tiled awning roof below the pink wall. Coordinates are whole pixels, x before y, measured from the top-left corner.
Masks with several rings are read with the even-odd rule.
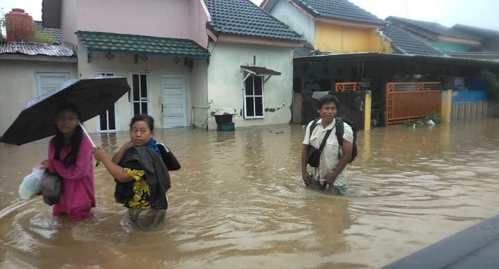
[[[206,49],[193,40],[118,33],[76,32],[89,51],[119,51],[147,55],[209,58]]]

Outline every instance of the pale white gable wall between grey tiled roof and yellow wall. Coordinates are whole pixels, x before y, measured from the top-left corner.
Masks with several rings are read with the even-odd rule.
[[[302,35],[308,43],[313,44],[315,33],[313,18],[308,17],[286,0],[278,0],[269,13]]]

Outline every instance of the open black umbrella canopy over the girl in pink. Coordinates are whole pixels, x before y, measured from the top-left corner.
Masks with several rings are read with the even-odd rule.
[[[55,113],[71,104],[80,112],[80,122],[106,112],[130,91],[126,78],[103,77],[67,80],[59,89],[29,101],[0,142],[22,145],[55,134]],[[86,132],[86,131],[85,131]]]

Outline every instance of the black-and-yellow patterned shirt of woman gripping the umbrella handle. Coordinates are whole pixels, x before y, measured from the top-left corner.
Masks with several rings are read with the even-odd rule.
[[[123,168],[123,171],[134,178],[132,199],[123,205],[129,208],[150,209],[149,205],[149,184],[145,178],[145,172],[141,169]]]

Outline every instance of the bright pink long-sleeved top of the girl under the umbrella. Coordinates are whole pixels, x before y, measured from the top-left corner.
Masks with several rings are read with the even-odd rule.
[[[90,209],[96,206],[94,189],[94,166],[92,166],[92,146],[87,137],[82,137],[76,162],[64,167],[64,164],[54,159],[54,140],[49,144],[49,171],[62,177],[62,194],[57,204],[53,205],[53,215],[66,214],[69,218],[87,218]],[[63,160],[69,153],[69,147],[64,147],[60,153]]]

